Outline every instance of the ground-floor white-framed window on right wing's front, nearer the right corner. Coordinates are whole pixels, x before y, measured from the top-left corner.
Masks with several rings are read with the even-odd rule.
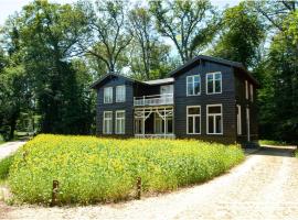
[[[207,134],[223,134],[222,105],[206,106],[206,129]]]

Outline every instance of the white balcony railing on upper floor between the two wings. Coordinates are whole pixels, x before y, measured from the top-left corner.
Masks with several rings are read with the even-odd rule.
[[[135,107],[173,105],[173,94],[134,97]]]

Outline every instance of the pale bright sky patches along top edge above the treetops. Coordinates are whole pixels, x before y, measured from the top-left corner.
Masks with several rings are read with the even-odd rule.
[[[58,2],[58,3],[72,3],[76,0],[50,0],[51,2]],[[135,0],[132,0],[135,1]],[[224,8],[225,6],[236,6],[241,0],[211,0],[213,6],[219,8]],[[31,0],[0,0],[0,25],[3,25],[6,19],[13,14],[15,11],[20,11],[23,6],[31,2]]]

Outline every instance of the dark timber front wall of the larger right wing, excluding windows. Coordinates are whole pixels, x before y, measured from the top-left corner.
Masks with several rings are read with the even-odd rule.
[[[206,95],[206,73],[222,73],[222,94]],[[201,75],[201,95],[187,97],[187,76]],[[206,105],[222,105],[223,134],[206,134]],[[187,106],[201,106],[201,134],[187,134]],[[181,73],[174,80],[174,133],[177,138],[234,143],[236,141],[233,67],[204,62]]]

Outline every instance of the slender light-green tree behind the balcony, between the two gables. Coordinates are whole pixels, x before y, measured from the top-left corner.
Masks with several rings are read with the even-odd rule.
[[[134,40],[130,44],[130,68],[138,79],[163,77],[169,70],[170,46],[160,41],[151,14],[146,8],[136,7],[129,14]]]

